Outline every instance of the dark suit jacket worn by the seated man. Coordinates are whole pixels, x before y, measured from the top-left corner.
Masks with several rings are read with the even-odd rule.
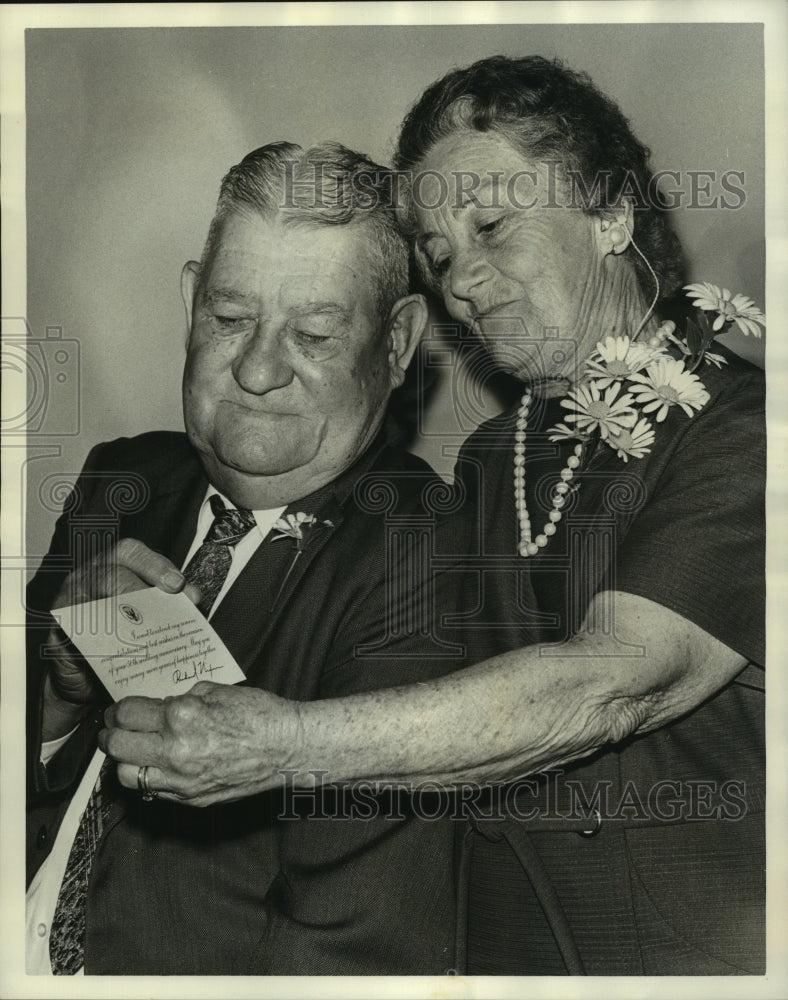
[[[94,449],[58,521],[29,593],[29,878],[54,841],[103,709],[46,769],[38,763],[46,612],[80,552],[114,533],[181,565],[206,486],[185,435],[122,439]],[[331,525],[311,529],[295,562],[295,541],[266,539],[212,618],[248,684],[308,700],[459,665],[459,647],[431,634],[430,605],[418,604],[435,597],[424,498],[441,488],[428,466],[379,438],[334,484],[288,508]],[[451,576],[435,584],[450,603]],[[147,804],[118,786],[91,874],[86,973],[445,973],[454,964],[452,824],[416,820],[397,802],[394,818],[321,822],[310,839],[310,820],[275,820],[281,794],[195,809]],[[287,913],[271,955],[264,901],[277,873],[273,912]]]

